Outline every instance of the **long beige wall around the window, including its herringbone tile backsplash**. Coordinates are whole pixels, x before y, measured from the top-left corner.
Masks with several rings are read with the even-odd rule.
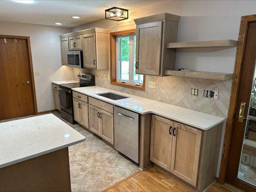
[[[178,30],[178,41],[234,39],[237,40],[240,19],[243,15],[254,14],[256,1],[183,1],[173,0],[158,3],[146,8],[130,12],[130,19],[121,22],[99,20],[89,24],[73,27],[72,31],[92,27],[109,28],[111,32],[133,29],[136,27],[133,19],[142,16],[169,12],[181,15]],[[194,48],[179,49],[176,56],[176,68],[186,68],[198,71],[233,72],[236,48]],[[156,81],[156,89],[134,91],[110,85],[104,79],[109,70],[78,70],[96,75],[96,84],[125,93],[142,96],[183,108],[190,108],[219,117],[227,117],[232,81],[215,81],[209,79],[183,77],[155,77],[146,75],[148,81]],[[191,96],[191,88],[199,88],[199,96]],[[203,90],[219,91],[219,100],[203,98]]]

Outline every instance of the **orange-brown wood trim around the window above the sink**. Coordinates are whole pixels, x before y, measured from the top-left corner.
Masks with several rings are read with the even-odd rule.
[[[116,36],[136,33],[136,29],[129,29],[125,31],[118,31],[110,33],[110,84],[145,91],[146,75],[143,75],[143,86],[136,86],[133,84],[122,84],[116,81]]]

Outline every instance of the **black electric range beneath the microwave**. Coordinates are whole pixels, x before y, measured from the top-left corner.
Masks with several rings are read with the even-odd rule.
[[[77,75],[79,83],[72,84],[60,84],[59,96],[61,103],[61,117],[68,120],[72,124],[75,124],[74,110],[73,110],[73,92],[72,88],[95,86],[95,76],[85,73]]]

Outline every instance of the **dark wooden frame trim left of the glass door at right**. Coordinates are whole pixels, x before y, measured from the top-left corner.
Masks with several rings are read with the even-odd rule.
[[[250,22],[256,21],[256,14],[247,15],[241,18],[240,31],[238,37],[238,45],[236,50],[236,59],[234,66],[234,74],[232,80],[231,97],[229,104],[229,113],[227,117],[227,125],[224,137],[224,144],[221,156],[221,164],[219,171],[219,183],[224,184],[227,176],[228,162],[230,157],[230,149],[232,142],[233,124],[237,106],[238,91],[241,80],[241,72],[244,60],[244,49],[247,38],[248,25]]]

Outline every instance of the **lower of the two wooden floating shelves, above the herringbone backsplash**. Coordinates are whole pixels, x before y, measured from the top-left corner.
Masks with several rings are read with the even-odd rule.
[[[203,79],[215,79],[215,80],[229,80],[233,78],[232,73],[222,73],[222,72],[198,72],[198,71],[171,71],[166,70],[165,75],[183,76],[183,77],[195,77]]]

